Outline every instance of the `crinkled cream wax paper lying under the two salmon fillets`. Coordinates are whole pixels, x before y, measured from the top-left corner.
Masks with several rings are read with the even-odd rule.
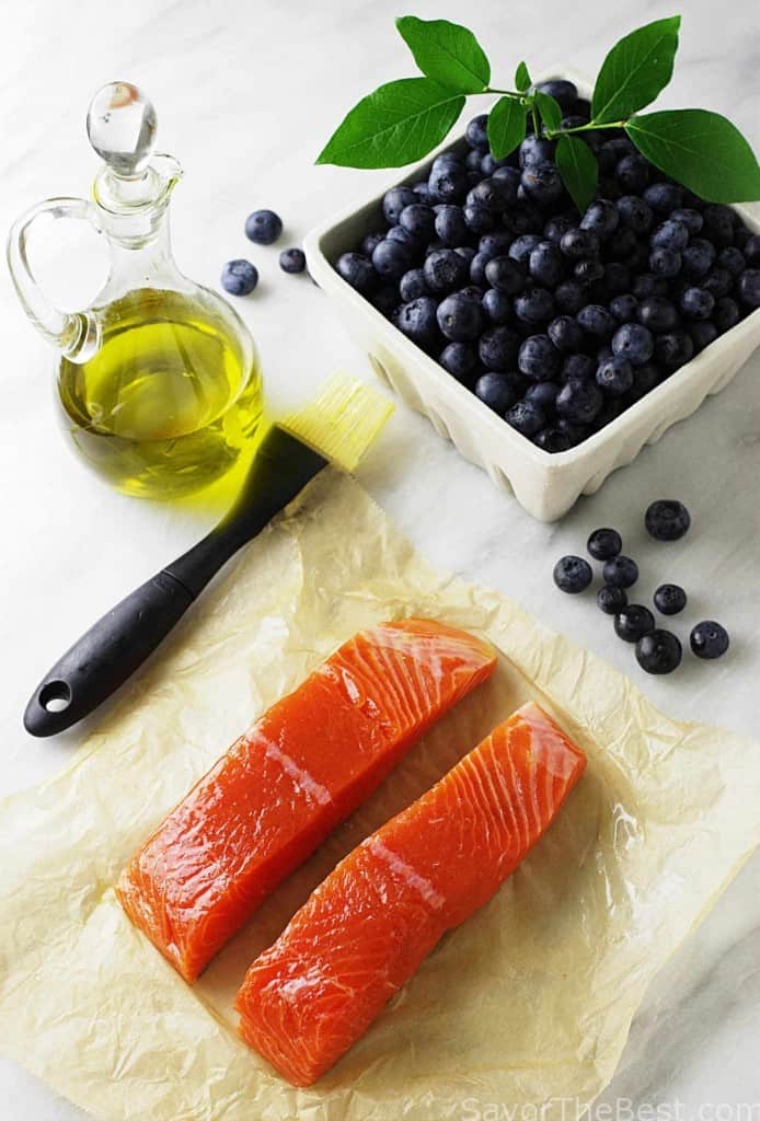
[[[359,628],[411,614],[486,636],[497,675],[186,985],[121,911],[119,870],[258,713]],[[248,963],[350,847],[529,697],[585,749],[586,775],[492,902],[330,1074],[294,1090],[237,1037]],[[567,1121],[760,840],[759,804],[757,747],[668,720],[509,600],[432,571],[356,483],[326,472],[68,770],[1,807],[2,1046],[103,1121],[474,1121],[513,1105]]]

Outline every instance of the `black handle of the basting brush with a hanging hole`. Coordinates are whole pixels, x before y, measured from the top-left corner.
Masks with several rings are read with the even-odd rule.
[[[325,464],[318,453],[272,428],[226,518],[108,611],[45,675],[24,714],[27,732],[64,732],[110,697],[163,642],[222,565]]]

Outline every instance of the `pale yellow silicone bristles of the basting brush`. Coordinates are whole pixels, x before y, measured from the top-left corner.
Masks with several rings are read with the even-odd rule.
[[[354,471],[392,411],[386,397],[339,371],[315,401],[279,423],[335,466]]]

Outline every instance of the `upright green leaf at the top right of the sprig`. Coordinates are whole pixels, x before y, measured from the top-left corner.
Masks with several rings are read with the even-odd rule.
[[[657,19],[617,43],[602,63],[592,120],[621,121],[650,105],[673,76],[680,16]]]

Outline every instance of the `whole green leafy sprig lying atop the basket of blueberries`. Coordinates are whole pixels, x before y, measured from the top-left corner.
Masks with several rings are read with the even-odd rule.
[[[720,113],[704,109],[641,114],[671,76],[680,17],[658,19],[620,39],[594,84],[591,119],[573,122],[549,89],[535,85],[525,62],[515,90],[492,86],[491,65],[465,27],[445,19],[402,16],[396,21],[423,77],[381,85],[345,117],[317,158],[342,167],[404,167],[439,145],[466,99],[498,94],[488,138],[494,159],[506,159],[534,131],[557,141],[556,161],[578,210],[596,193],[599,168],[584,133],[624,129],[656,167],[708,202],[760,198],[760,166],[741,132]]]

